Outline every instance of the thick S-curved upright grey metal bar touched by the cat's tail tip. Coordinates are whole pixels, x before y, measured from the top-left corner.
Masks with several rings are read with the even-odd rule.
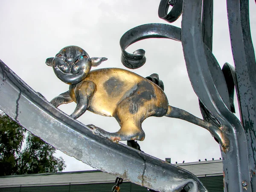
[[[221,150],[225,191],[243,191],[242,182],[250,180],[248,161],[244,158],[248,155],[247,141],[241,123],[224,104],[212,79],[201,34],[201,3],[201,0],[184,0],[183,3],[182,45],[186,66],[198,98],[218,119],[230,139],[230,148]]]

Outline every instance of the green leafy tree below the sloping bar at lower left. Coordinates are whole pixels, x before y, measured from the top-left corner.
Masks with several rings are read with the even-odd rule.
[[[26,131],[17,122],[0,114],[0,176],[61,172],[62,157],[54,157],[56,149]]]

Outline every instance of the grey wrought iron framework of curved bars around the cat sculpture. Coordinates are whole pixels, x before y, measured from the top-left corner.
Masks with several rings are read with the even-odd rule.
[[[212,0],[161,0],[159,17],[171,23],[182,14],[181,29],[151,23],[129,30],[120,40],[122,62],[128,68],[138,68],[145,63],[143,49],[134,54],[125,51],[129,45],[145,38],[181,41],[189,79],[198,96],[204,121],[219,127],[209,131],[221,146],[225,191],[253,192],[256,185],[256,62],[249,5],[247,0],[227,0],[235,68],[226,63],[221,70],[211,52],[212,3]],[[169,6],[173,7],[168,13]],[[90,128],[50,105],[2,61],[0,66],[1,110],[47,143],[96,169],[150,189],[207,191],[198,178],[186,170],[93,134]],[[234,87],[241,122],[233,114]]]

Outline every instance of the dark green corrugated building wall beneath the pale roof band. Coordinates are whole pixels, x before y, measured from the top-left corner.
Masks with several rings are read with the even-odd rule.
[[[199,177],[209,192],[224,192],[223,176]],[[0,188],[0,192],[111,192],[115,183],[93,183],[62,186],[21,186]],[[121,192],[148,192],[145,187],[130,182],[120,185]]]

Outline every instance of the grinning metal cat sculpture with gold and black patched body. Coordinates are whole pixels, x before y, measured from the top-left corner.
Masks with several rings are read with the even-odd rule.
[[[47,58],[55,75],[70,84],[67,92],[52,99],[51,104],[59,105],[76,102],[71,117],[77,119],[86,110],[102,116],[114,117],[120,125],[119,131],[109,133],[94,125],[89,126],[94,134],[113,141],[144,140],[142,122],[149,116],[168,116],[192,122],[209,130],[221,142],[229,145],[221,130],[182,109],[168,104],[163,92],[163,83],[153,74],[146,78],[128,70],[103,68],[91,70],[107,58],[90,58],[84,49],[68,46],[61,49],[55,58]],[[155,79],[155,80],[154,80]],[[160,82],[158,86],[157,82]],[[161,88],[162,86],[162,88]]]

